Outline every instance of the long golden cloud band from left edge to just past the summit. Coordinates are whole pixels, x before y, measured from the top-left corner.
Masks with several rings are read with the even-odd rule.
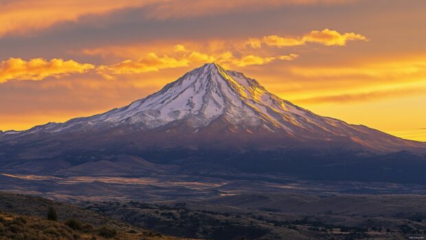
[[[265,65],[272,61],[293,61],[297,54],[277,56],[257,56],[245,54],[234,56],[232,52],[206,54],[199,51],[188,50],[183,45],[175,45],[171,55],[158,55],[150,52],[137,60],[126,59],[119,63],[109,65],[94,65],[91,63],[78,63],[74,60],[53,58],[32,58],[25,61],[21,58],[9,58],[0,63],[0,83],[10,80],[43,80],[47,77],[61,78],[69,74],[82,74],[96,69],[96,72],[106,79],[115,79],[120,74],[142,74],[158,72],[161,69],[197,66],[202,63],[216,62],[225,67],[246,67],[249,65]]]

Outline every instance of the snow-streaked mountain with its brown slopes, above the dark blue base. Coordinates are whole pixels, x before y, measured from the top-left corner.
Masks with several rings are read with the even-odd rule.
[[[157,145],[168,142],[170,134],[178,132],[181,135],[179,144],[186,142],[191,146],[209,141],[245,142],[251,139],[251,143],[256,140],[263,144],[273,142],[274,147],[315,142],[323,146],[347,144],[351,148],[374,151],[425,149],[421,142],[318,116],[271,94],[256,80],[225,70],[216,63],[194,69],[157,93],[128,106],[65,123],[45,124],[8,134],[8,137],[3,133],[0,140],[25,135],[54,138],[72,134],[76,138],[80,133],[98,132],[113,133],[103,138],[120,136],[123,140],[132,136],[133,142],[150,139],[150,144],[158,141]],[[199,142],[201,138],[203,141]]]

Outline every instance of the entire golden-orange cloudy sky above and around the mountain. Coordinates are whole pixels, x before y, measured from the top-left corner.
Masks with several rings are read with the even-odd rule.
[[[0,129],[127,105],[203,63],[426,141],[423,0],[0,0]]]

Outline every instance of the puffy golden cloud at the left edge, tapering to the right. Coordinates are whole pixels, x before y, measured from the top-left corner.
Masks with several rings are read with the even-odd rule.
[[[60,78],[68,74],[84,73],[93,68],[95,66],[89,63],[64,61],[60,58],[53,58],[50,61],[43,58],[33,58],[30,61],[9,58],[0,63],[0,83],[8,80],[43,80],[49,76]]]

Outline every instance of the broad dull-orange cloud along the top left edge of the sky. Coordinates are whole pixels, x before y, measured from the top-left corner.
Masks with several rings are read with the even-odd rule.
[[[79,21],[87,15],[102,15],[124,8],[148,8],[150,19],[170,19],[221,14],[223,12],[273,8],[283,5],[346,3],[351,0],[14,0],[0,1],[0,37],[27,34],[65,21]],[[353,1],[353,0],[352,0]]]

